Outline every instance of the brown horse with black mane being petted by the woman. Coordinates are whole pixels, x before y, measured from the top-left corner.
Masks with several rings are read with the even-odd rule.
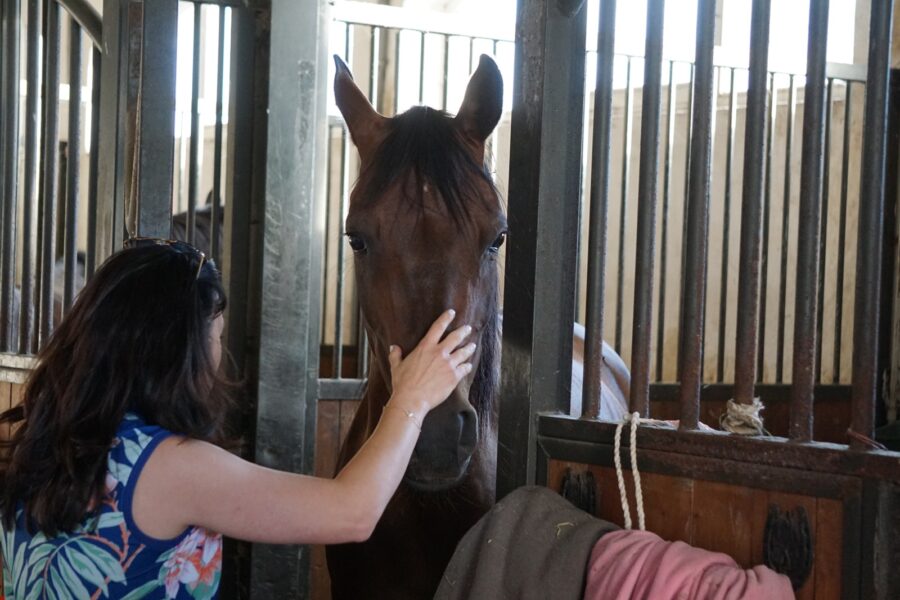
[[[389,344],[411,351],[437,315],[454,308],[451,329],[471,325],[478,346],[475,368],[422,423],[403,481],[371,538],[326,549],[332,598],[430,598],[457,542],[495,495],[498,250],[507,222],[485,166],[485,140],[500,118],[503,80],[482,55],[455,117],[417,106],[387,118],[337,56],[335,64],[336,103],[361,161],[345,236],[372,354],[337,469],[371,435],[390,397]],[[604,364],[605,387],[627,398],[618,383],[628,379],[621,358]],[[620,367],[624,373],[613,372]]]

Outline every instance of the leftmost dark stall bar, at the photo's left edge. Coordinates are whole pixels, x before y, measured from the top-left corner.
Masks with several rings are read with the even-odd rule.
[[[3,119],[3,245],[0,266],[0,349],[12,349],[16,287],[16,204],[19,196],[19,43],[22,30],[20,0],[4,2],[6,31],[3,32],[3,80],[6,84]],[[30,28],[33,29],[33,26]],[[29,81],[29,86],[32,82]]]

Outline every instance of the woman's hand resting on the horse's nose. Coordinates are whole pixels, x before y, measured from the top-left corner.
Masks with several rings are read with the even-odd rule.
[[[441,340],[455,315],[451,309],[438,317],[405,359],[399,347],[391,346],[388,360],[394,389],[392,404],[404,411],[428,412],[443,402],[472,370],[472,363],[467,361],[475,353],[475,344],[459,347],[472,332],[471,327],[464,325]]]

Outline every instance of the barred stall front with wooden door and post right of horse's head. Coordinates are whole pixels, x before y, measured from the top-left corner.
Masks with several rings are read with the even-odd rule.
[[[622,3],[618,5],[621,9]],[[732,231],[740,232],[739,259],[733,267],[737,271],[736,294],[729,296],[736,306],[730,308],[716,306],[719,299],[711,293],[715,289],[708,286],[719,266],[714,260],[720,252],[711,242],[714,231],[710,215],[722,201],[711,185],[711,165],[713,156],[723,149],[718,141],[721,138],[714,135],[718,134],[714,128],[719,126],[714,120],[719,97],[713,63],[716,3],[698,3],[680,306],[673,310],[675,316],[668,317],[680,322],[678,383],[651,383],[654,313],[663,305],[654,305],[655,291],[666,281],[658,279],[657,261],[659,256],[664,260],[671,248],[666,247],[664,237],[666,211],[671,210],[664,203],[669,196],[660,183],[667,180],[670,165],[670,146],[665,145],[667,136],[660,127],[665,102],[661,85],[665,8],[662,0],[648,2],[637,224],[636,235],[630,238],[637,253],[630,354],[630,410],[634,419],[625,424],[623,434],[622,424],[596,418],[596,394],[591,392],[599,386],[599,373],[591,366],[597,364],[600,341],[614,323],[605,318],[605,303],[616,264],[609,260],[608,236],[615,227],[610,218],[615,198],[611,181],[618,173],[611,160],[616,140],[610,127],[616,37],[612,23],[617,3],[601,3],[597,46],[602,51],[596,67],[594,118],[585,143],[592,154],[590,191],[585,192],[585,198],[590,198],[590,217],[585,282],[586,384],[580,418],[565,413],[569,408],[568,332],[576,301],[577,243],[571,232],[578,221],[582,151],[582,140],[571,132],[582,130],[586,18],[580,3],[520,5],[514,92],[519,100],[514,104],[510,159],[511,171],[520,176],[510,177],[510,231],[535,235],[511,233],[506,263],[498,498],[529,482],[567,489],[604,519],[631,527],[629,513],[638,511],[641,528],[645,527],[646,514],[646,528],[662,537],[725,552],[744,566],[764,561],[777,564],[778,552],[773,544],[777,546],[778,542],[773,540],[780,523],[793,521],[796,540],[787,544],[782,538],[781,542],[797,550],[791,560],[798,597],[897,597],[900,455],[875,440],[876,426],[885,423],[889,402],[889,365],[896,360],[891,331],[896,318],[898,88],[896,71],[890,69],[891,24],[896,23],[892,3],[871,3],[870,14],[863,21],[867,26],[862,28],[867,41],[866,73],[853,79],[854,86],[865,87],[865,125],[862,143],[855,149],[860,153],[855,264],[847,267],[855,269],[856,278],[852,349],[847,347],[848,338],[837,342],[845,346],[842,356],[852,362],[852,369],[849,385],[838,386],[833,385],[833,381],[840,381],[837,371],[827,380],[823,377],[822,361],[823,287],[825,282],[834,281],[831,270],[836,267],[834,261],[826,260],[830,255],[824,250],[825,232],[829,232],[829,240],[834,237],[832,230],[826,229],[825,218],[834,214],[834,198],[847,193],[847,184],[843,183],[840,195],[835,196],[833,170],[830,186],[826,183],[829,168],[835,164],[831,160],[836,147],[833,94],[843,77],[835,70],[836,65],[826,62],[828,2],[809,5],[798,217],[794,219],[798,232],[793,272],[794,333],[792,348],[788,348],[792,350],[790,385],[780,381],[767,385],[770,380],[764,379],[760,370],[769,352],[761,341],[766,330],[766,309],[761,306],[766,294],[761,286],[771,285],[773,257],[767,237],[774,235],[770,226],[775,216],[773,195],[777,193],[772,191],[777,190],[772,181],[772,155],[776,150],[772,147],[772,119],[778,108],[778,90],[767,73],[770,18],[774,14],[770,10],[775,7],[766,0],[753,2],[750,20],[743,176],[740,204],[735,205],[740,206],[740,216],[738,219],[735,215],[737,226],[732,224]],[[802,33],[797,31],[796,35]],[[896,37],[894,46],[896,52]],[[793,83],[789,93],[793,97]],[[540,100],[524,103],[523,98]],[[845,119],[845,124],[848,122]],[[729,121],[728,133],[732,131]],[[730,155],[732,149],[727,152]],[[846,152],[843,150],[845,172]],[[665,179],[661,178],[663,169]],[[784,175],[786,181],[790,177]],[[787,214],[789,207],[783,208]],[[842,213],[841,221],[845,218]],[[833,220],[828,224],[834,227]],[[669,231],[673,229],[671,223],[668,227]],[[851,247],[844,245],[849,243],[845,235],[843,230],[839,235],[841,246],[836,256],[841,260],[851,252]],[[719,285],[724,289],[724,279]],[[509,293],[513,289],[517,293]],[[725,295],[723,291],[721,298]],[[722,331],[705,331],[707,301],[714,310],[735,314],[733,385],[706,383],[710,375],[704,349],[708,350],[710,340]],[[725,323],[720,321],[718,327],[725,327]],[[712,366],[715,371],[715,361]],[[718,426],[723,401],[733,399],[723,425],[733,422],[739,425],[733,430],[752,432],[753,427],[746,426],[756,418],[753,405],[758,396],[768,409],[777,410],[771,416],[769,410],[765,412],[768,431],[748,436],[700,428],[704,421]],[[841,412],[825,417],[835,419],[829,426],[831,432],[825,433],[827,427],[820,428],[820,418],[835,405],[842,407]],[[647,418],[679,422],[676,427],[663,427],[658,422],[646,423]],[[628,430],[630,441],[624,441]],[[620,454],[624,486],[617,482]],[[627,499],[623,498],[626,495]]]

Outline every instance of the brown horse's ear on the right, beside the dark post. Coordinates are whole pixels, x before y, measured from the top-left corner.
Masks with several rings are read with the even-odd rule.
[[[456,120],[466,135],[480,145],[494,131],[502,110],[503,77],[497,63],[482,54],[478,68],[469,79]]]

